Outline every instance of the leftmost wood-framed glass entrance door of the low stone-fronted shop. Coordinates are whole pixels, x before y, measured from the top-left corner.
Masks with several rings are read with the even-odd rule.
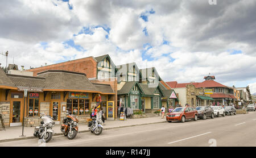
[[[22,125],[22,115],[23,115],[23,105],[22,100],[11,101],[10,107],[10,126],[21,126]]]

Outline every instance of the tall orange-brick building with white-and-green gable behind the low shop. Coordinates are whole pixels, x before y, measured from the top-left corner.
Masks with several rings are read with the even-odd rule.
[[[88,80],[92,83],[110,85],[115,94],[109,96],[108,99],[114,101],[114,115],[117,118],[117,78],[115,78],[115,73],[118,70],[115,68],[109,55],[98,57],[89,56],[82,59],[28,69],[27,71],[33,72],[34,76],[36,76],[37,73],[46,70],[67,70],[70,72],[85,73]],[[102,107],[106,115],[106,101],[102,102]]]

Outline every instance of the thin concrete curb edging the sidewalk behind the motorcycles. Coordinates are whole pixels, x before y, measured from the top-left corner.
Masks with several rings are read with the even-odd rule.
[[[127,125],[127,126],[108,127],[108,128],[104,128],[104,130],[112,130],[112,129],[116,129],[116,128],[134,127],[134,126],[142,126],[142,125],[147,125],[147,124],[164,123],[164,122],[166,122],[166,120],[161,121],[161,122],[152,122],[152,123],[132,124],[132,125]],[[79,131],[79,132],[80,133],[85,133],[85,132],[90,132],[90,130],[83,130],[83,131]],[[53,134],[53,136],[59,136],[59,135],[63,135],[63,133]],[[27,136],[27,137],[23,137],[23,138],[2,139],[2,140],[0,140],[0,143],[12,142],[12,141],[17,141],[17,140],[27,140],[27,139],[38,139],[38,138],[35,138],[35,136]]]

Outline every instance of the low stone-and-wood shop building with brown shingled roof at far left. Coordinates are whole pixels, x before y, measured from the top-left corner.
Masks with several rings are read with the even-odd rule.
[[[66,110],[79,122],[86,122],[98,95],[102,102],[114,103],[112,87],[90,82],[84,73],[46,70],[35,77],[5,74],[0,69],[0,81],[0,113],[6,126],[20,126],[23,109],[24,124],[29,127],[39,124],[39,113],[51,115],[60,123]],[[28,90],[26,98],[24,89]]]

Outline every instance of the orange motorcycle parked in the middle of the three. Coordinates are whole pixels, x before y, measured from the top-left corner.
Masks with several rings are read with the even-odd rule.
[[[78,132],[78,122],[79,120],[73,114],[69,114],[63,119],[63,124],[61,124],[60,131],[68,136],[68,139],[74,139]]]

